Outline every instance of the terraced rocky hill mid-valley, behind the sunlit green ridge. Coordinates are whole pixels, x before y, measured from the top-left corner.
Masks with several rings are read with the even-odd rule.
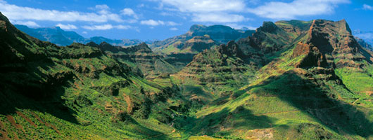
[[[182,71],[172,76],[184,85],[201,85],[208,87],[215,95],[220,95],[248,83],[255,70],[258,70],[256,66],[261,63],[263,59],[255,50],[245,53],[239,44],[229,41],[227,45],[198,53]]]

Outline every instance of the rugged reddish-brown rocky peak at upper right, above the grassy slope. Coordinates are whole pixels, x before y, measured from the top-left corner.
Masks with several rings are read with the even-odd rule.
[[[308,30],[308,40],[300,42],[293,50],[293,57],[306,55],[298,66],[362,67],[362,60],[372,63],[369,54],[355,40],[346,20],[333,22],[313,20]],[[338,59],[338,62],[334,62]],[[324,64],[327,62],[327,64]]]

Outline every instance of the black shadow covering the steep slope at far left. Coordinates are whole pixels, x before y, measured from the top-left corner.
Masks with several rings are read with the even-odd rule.
[[[77,124],[77,120],[74,117],[74,114],[77,113],[68,108],[64,100],[61,99],[61,96],[65,94],[64,86],[69,86],[68,81],[71,81],[74,77],[76,78],[76,76],[73,73],[64,71],[56,73],[54,75],[58,77],[56,79],[52,75],[36,70],[37,67],[48,69],[53,66],[53,63],[32,63],[34,64],[27,64],[27,66],[25,64],[24,67],[8,66],[8,69],[18,69],[19,71],[0,72],[0,114],[6,116],[15,114],[17,109],[30,109],[49,113],[62,120]],[[46,78],[49,82],[42,82],[45,80],[43,78]]]

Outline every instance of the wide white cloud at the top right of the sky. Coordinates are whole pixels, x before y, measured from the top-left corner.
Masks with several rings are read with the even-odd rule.
[[[294,0],[290,3],[272,1],[248,11],[264,18],[292,19],[305,15],[322,15],[334,13],[334,8],[349,0]]]

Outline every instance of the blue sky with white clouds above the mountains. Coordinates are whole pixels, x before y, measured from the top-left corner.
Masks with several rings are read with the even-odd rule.
[[[256,29],[279,20],[346,19],[352,30],[373,31],[372,0],[0,0],[0,12],[17,25],[144,41],[196,24]]]

